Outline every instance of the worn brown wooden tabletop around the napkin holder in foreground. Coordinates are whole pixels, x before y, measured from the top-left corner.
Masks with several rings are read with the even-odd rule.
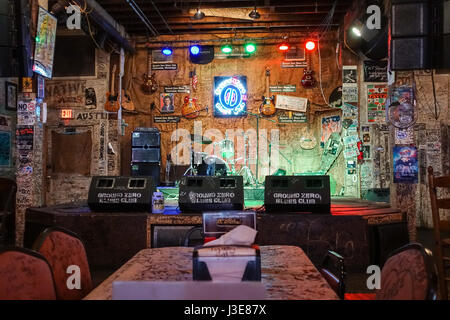
[[[193,248],[144,249],[85,300],[110,300],[113,281],[190,281]],[[336,293],[299,247],[262,246],[262,282],[268,299],[337,300]]]

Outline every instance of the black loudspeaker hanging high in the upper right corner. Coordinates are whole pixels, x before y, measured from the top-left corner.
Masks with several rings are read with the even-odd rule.
[[[431,68],[429,2],[394,0],[391,13],[392,70]]]

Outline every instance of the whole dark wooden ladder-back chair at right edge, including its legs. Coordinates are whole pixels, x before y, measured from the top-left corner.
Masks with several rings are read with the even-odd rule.
[[[433,231],[435,241],[435,257],[439,274],[439,291],[441,299],[448,300],[448,283],[450,276],[447,270],[450,265],[450,255],[445,254],[445,250],[450,250],[450,238],[442,237],[442,232],[450,232],[450,220],[441,220],[439,209],[450,209],[450,198],[437,196],[436,188],[450,188],[450,176],[435,177],[433,168],[428,167],[428,183],[430,188],[431,213],[433,215]]]

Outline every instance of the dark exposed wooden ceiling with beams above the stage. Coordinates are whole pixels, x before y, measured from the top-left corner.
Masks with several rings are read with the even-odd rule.
[[[130,35],[313,31],[321,27],[334,0],[96,0]],[[54,1],[50,1],[54,2]],[[150,22],[146,26],[129,2]],[[337,0],[331,28],[342,23],[353,0]],[[248,15],[256,5],[261,17]],[[205,18],[194,20],[200,8]],[[153,30],[152,30],[153,29]]]

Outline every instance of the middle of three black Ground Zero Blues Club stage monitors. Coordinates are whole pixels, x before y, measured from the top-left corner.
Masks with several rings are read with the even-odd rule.
[[[178,205],[183,212],[242,210],[242,176],[185,176],[180,181]]]

